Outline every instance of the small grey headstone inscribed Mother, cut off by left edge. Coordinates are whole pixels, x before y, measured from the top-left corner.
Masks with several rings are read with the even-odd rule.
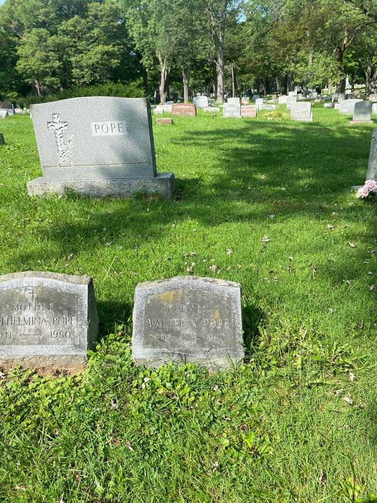
[[[0,366],[83,367],[98,323],[89,276],[0,276]]]

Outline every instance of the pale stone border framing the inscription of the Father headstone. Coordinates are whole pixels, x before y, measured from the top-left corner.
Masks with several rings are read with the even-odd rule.
[[[241,285],[233,281],[227,281],[217,278],[207,278],[198,276],[175,276],[164,280],[147,281],[138,283],[135,288],[134,308],[133,308],[133,332],[132,332],[132,360],[137,365],[158,368],[167,363],[182,365],[184,363],[196,363],[203,365],[209,371],[229,370],[235,368],[243,360],[245,352],[242,342],[235,344],[234,350],[224,353],[223,350],[211,350],[211,359],[205,356],[206,350],[184,350],[179,353],[174,350],[167,356],[165,352],[157,348],[143,348],[143,314],[144,300],[148,293],[153,290],[154,294],[164,293],[176,286],[181,286],[186,282],[184,288],[192,290],[203,289],[204,292],[222,293],[224,287],[231,287],[232,291],[228,293],[232,297],[232,316],[235,312],[236,321],[235,331],[242,334],[242,305],[241,305]]]

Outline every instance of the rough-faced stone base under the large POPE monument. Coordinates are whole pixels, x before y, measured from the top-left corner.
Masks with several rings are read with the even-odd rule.
[[[27,182],[29,196],[64,196],[74,192],[82,196],[129,198],[137,193],[159,194],[170,198],[175,188],[173,173],[157,173],[154,178],[119,178],[107,180],[45,180],[43,177]]]

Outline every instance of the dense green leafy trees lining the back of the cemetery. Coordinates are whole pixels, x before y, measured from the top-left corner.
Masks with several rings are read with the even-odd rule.
[[[142,80],[144,94],[377,81],[377,0],[6,0],[0,99]]]

